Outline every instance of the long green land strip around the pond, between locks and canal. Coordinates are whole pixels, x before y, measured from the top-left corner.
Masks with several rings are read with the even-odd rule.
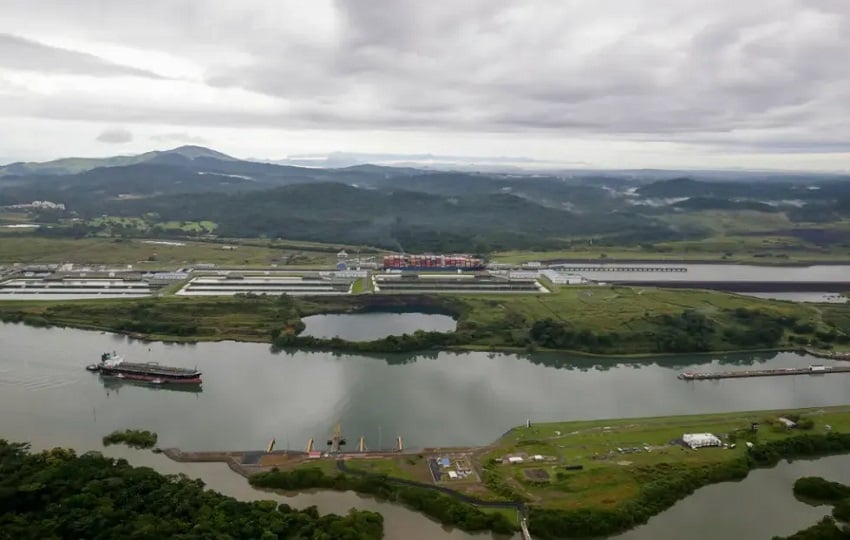
[[[325,313],[425,311],[457,320],[454,332],[374,341],[301,335]],[[805,305],[703,290],[561,287],[549,294],[361,294],[5,301],[0,320],[71,326],[166,341],[242,340],[278,349],[395,353],[434,349],[652,355],[843,348],[850,305]]]

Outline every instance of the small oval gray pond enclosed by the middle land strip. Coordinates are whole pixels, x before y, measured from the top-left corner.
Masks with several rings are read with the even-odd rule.
[[[304,317],[303,335],[371,341],[387,336],[426,332],[453,332],[457,322],[448,315],[428,313],[352,313]]]

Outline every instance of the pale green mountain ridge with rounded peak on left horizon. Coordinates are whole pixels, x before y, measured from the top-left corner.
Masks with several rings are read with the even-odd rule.
[[[121,167],[135,165],[137,163],[167,163],[172,159],[195,160],[199,158],[210,158],[221,161],[236,161],[235,158],[204,148],[203,146],[180,146],[171,150],[155,150],[135,156],[114,156],[106,158],[62,158],[43,163],[11,163],[0,167],[0,176],[27,176],[27,175],[64,175],[77,174],[100,167]]]

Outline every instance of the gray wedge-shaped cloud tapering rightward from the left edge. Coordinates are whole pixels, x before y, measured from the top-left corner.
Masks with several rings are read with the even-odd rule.
[[[115,64],[91,54],[51,47],[20,36],[3,33],[0,33],[0,68],[47,73],[160,78],[150,71]]]

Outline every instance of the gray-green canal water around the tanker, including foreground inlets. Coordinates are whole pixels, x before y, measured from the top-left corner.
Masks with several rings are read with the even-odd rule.
[[[204,373],[203,391],[108,385],[83,369],[102,352],[112,350],[130,361],[197,366]],[[5,324],[0,325],[0,436],[30,441],[38,448],[70,446],[85,451],[100,450],[101,437],[115,429],[143,428],[159,434],[160,446],[185,450],[261,449],[273,437],[279,448],[303,449],[308,438],[323,441],[340,422],[349,440],[363,435],[367,446],[376,449],[391,448],[397,435],[402,435],[407,447],[483,444],[526,419],[542,422],[850,403],[850,375],[845,374],[707,382],[676,379],[686,370],[814,362],[829,363],[791,353],[619,363],[551,354],[274,354],[263,344],[167,345],[96,332]],[[201,477],[210,487],[233,496],[270,497],[252,490],[220,464],[175,464],[163,456],[127,449],[110,448],[108,453],[125,453],[134,464],[164,472]],[[841,480],[833,471],[840,467],[831,463],[814,462],[825,467],[826,476]],[[847,470],[850,461],[841,463]],[[689,530],[691,537],[704,531],[698,539],[717,537],[714,532],[721,531],[719,527],[721,537],[727,538],[791,533],[813,523],[815,519],[810,518],[816,512],[793,499],[777,499],[774,511],[781,519],[751,520],[739,508],[762,500],[748,495],[744,486],[751,483],[752,489],[790,493],[797,473],[783,470],[759,471],[739,484],[700,490],[624,538],[664,538],[662,533],[673,526]],[[735,495],[738,488],[740,498]],[[713,490],[720,491],[712,495]],[[404,508],[350,493],[302,494],[286,500],[294,506],[317,504],[322,511],[344,511],[349,506],[378,509],[387,517],[391,539],[470,538]],[[692,500],[708,506],[699,513],[689,506]],[[761,523],[756,536],[748,534],[751,521]]]

